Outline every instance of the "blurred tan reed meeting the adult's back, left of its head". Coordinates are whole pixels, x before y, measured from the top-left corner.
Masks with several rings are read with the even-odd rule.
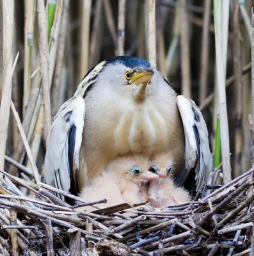
[[[83,79],[88,72],[89,65],[89,38],[90,38],[91,0],[83,0],[81,20],[81,63],[79,79]]]

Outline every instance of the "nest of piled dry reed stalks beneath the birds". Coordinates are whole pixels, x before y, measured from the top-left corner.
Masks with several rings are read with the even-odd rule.
[[[3,172],[0,251],[4,255],[250,255],[253,172],[219,188],[210,186],[209,193],[206,187],[198,202],[161,210],[148,204],[122,204],[93,212],[79,212],[77,205],[68,205],[55,193],[88,205],[76,196],[44,183],[36,188]],[[23,188],[14,183],[34,196],[24,196]]]

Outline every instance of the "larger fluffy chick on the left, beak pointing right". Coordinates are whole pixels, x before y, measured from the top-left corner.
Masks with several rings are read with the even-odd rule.
[[[128,203],[148,201],[148,180],[159,179],[149,171],[148,158],[141,156],[118,157],[106,169],[83,188],[79,197],[88,202],[106,198],[102,208]],[[95,211],[94,207],[80,207],[78,211]]]

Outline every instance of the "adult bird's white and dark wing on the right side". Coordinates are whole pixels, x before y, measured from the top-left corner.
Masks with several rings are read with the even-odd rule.
[[[205,177],[212,169],[207,125],[193,100],[179,95],[177,96],[177,106],[185,136],[185,166],[183,166],[185,170],[181,170],[177,182],[182,184],[191,170],[194,170],[195,188],[196,191],[199,191],[203,188]]]

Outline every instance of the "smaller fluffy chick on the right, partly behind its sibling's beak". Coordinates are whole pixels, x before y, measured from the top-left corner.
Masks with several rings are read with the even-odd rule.
[[[149,182],[148,200],[153,207],[185,204],[191,200],[184,188],[174,184],[174,168],[171,154],[159,154],[154,157],[150,171],[159,175],[160,179]]]

